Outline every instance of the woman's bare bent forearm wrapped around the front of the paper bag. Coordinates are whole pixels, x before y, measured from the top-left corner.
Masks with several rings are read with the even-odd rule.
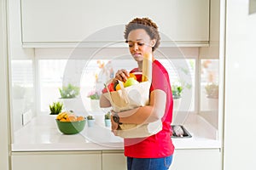
[[[150,93],[149,99],[149,105],[119,112],[119,122],[145,124],[160,120],[166,111],[166,93],[156,89]]]

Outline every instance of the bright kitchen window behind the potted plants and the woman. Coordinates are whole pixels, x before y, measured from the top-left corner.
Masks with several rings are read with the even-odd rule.
[[[169,73],[172,84],[179,83],[183,86],[183,95],[190,95],[191,104],[189,104],[189,111],[195,111],[195,59],[185,59],[186,68],[183,67],[184,59],[159,59]],[[38,59],[38,112],[49,114],[49,105],[61,98],[59,89],[63,84],[63,75],[67,65],[67,59]],[[70,62],[70,61],[69,61]],[[91,90],[100,90],[103,88],[104,82],[107,82],[114,73],[119,69],[125,68],[131,71],[132,68],[137,67],[137,63],[133,59],[90,59],[89,62],[76,59],[71,61],[73,65],[72,73],[69,73],[70,78],[68,82],[73,79],[79,82],[73,84],[80,87],[80,96],[84,102],[85,98]],[[176,65],[174,65],[176,64]],[[104,65],[104,66],[102,66]],[[112,75],[109,71],[112,69]],[[182,80],[183,76],[191,77],[190,82]],[[69,77],[67,75],[67,77]],[[74,78],[77,77],[77,78]],[[192,93],[191,93],[191,92]],[[85,104],[86,105],[86,104]],[[181,108],[182,110],[182,108]],[[185,107],[183,111],[188,111]]]

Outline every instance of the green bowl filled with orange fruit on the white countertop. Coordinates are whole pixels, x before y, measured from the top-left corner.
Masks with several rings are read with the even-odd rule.
[[[84,129],[85,119],[83,116],[75,116],[73,113],[62,112],[56,116],[56,123],[61,133],[76,134]]]

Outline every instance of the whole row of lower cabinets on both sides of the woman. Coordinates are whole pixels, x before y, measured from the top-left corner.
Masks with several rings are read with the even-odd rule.
[[[221,170],[218,149],[175,150],[169,170]],[[123,150],[13,152],[12,170],[126,170]]]

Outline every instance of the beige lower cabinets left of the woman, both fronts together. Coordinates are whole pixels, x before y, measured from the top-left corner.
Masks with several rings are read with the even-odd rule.
[[[12,170],[126,170],[123,150],[13,152]]]

